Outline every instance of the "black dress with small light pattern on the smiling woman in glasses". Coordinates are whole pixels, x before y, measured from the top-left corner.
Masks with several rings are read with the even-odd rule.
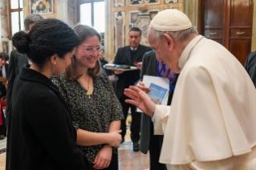
[[[52,76],[51,81],[59,87],[71,111],[74,127],[89,132],[108,133],[109,124],[114,120],[124,119],[122,107],[108,77],[101,72],[98,77],[93,77],[93,93],[91,99],[86,95],[82,85],[75,81],[67,81],[64,74]],[[91,162],[104,144],[83,147],[77,146],[80,152]],[[113,148],[113,153],[117,149]]]

